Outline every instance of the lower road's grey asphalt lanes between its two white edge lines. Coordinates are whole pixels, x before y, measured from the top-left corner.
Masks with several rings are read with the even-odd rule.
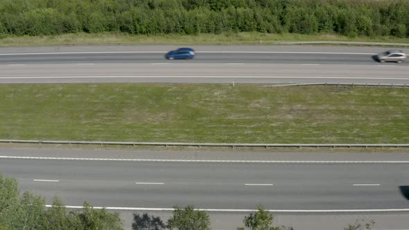
[[[408,163],[1,159],[21,189],[80,206],[274,210],[408,209]]]

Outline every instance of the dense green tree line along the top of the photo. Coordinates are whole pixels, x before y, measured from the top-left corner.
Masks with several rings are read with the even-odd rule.
[[[0,37],[336,33],[409,37],[405,0],[3,0]]]

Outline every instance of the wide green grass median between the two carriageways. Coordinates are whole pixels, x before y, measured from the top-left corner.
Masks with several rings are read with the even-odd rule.
[[[0,85],[0,139],[408,143],[409,89]]]

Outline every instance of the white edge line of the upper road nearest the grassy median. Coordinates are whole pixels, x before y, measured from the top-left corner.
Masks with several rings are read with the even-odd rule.
[[[47,76],[47,77],[0,77],[0,79],[64,79],[64,78],[290,78],[290,79],[367,79],[367,80],[409,80],[409,78],[372,77],[306,77],[306,76]]]

